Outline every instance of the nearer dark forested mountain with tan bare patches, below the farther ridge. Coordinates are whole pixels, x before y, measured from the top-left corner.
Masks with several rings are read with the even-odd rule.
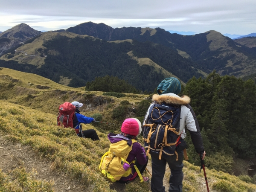
[[[172,48],[149,41],[108,42],[71,32],[45,32],[1,59],[5,61],[0,60],[0,67],[36,73],[55,82],[66,79],[71,87],[85,86],[96,76],[113,75],[139,90],[153,91],[166,77],[186,82],[200,76],[198,66]]]

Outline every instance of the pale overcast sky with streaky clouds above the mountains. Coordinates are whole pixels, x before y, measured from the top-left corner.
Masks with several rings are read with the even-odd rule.
[[[0,31],[20,23],[48,31],[87,21],[247,35],[256,32],[256,0],[0,0]]]

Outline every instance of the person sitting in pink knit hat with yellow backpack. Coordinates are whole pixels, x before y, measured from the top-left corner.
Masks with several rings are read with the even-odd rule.
[[[148,164],[148,157],[145,155],[145,149],[137,142],[141,130],[140,121],[129,118],[122,123],[120,134],[108,134],[111,145],[99,165],[108,180],[127,183],[139,177],[141,182],[149,182],[148,177],[142,176]]]

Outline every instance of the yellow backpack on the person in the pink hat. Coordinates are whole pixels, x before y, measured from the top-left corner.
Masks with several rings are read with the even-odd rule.
[[[135,142],[137,141],[132,140],[132,144]],[[110,144],[108,152],[102,156],[99,165],[99,169],[102,170],[102,174],[105,175],[108,180],[115,182],[116,180],[120,180],[121,177],[127,177],[132,173],[130,163],[126,161],[131,149],[132,145],[129,146],[125,140]],[[131,163],[135,163],[135,160]],[[134,168],[140,177],[140,182],[143,182],[143,177],[139,169],[135,165]]]

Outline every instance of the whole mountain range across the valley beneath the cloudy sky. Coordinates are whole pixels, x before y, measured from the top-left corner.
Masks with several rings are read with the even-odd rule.
[[[20,25],[15,26],[20,31],[29,27]],[[233,41],[213,30],[179,35],[160,28],[114,29],[87,22],[66,30],[35,30],[31,37],[36,34],[18,45],[17,52],[10,49],[3,55],[0,67],[36,73],[73,87],[84,86],[96,76],[113,75],[141,90],[153,90],[167,76],[186,82],[214,69],[236,77],[256,73],[254,39]]]

